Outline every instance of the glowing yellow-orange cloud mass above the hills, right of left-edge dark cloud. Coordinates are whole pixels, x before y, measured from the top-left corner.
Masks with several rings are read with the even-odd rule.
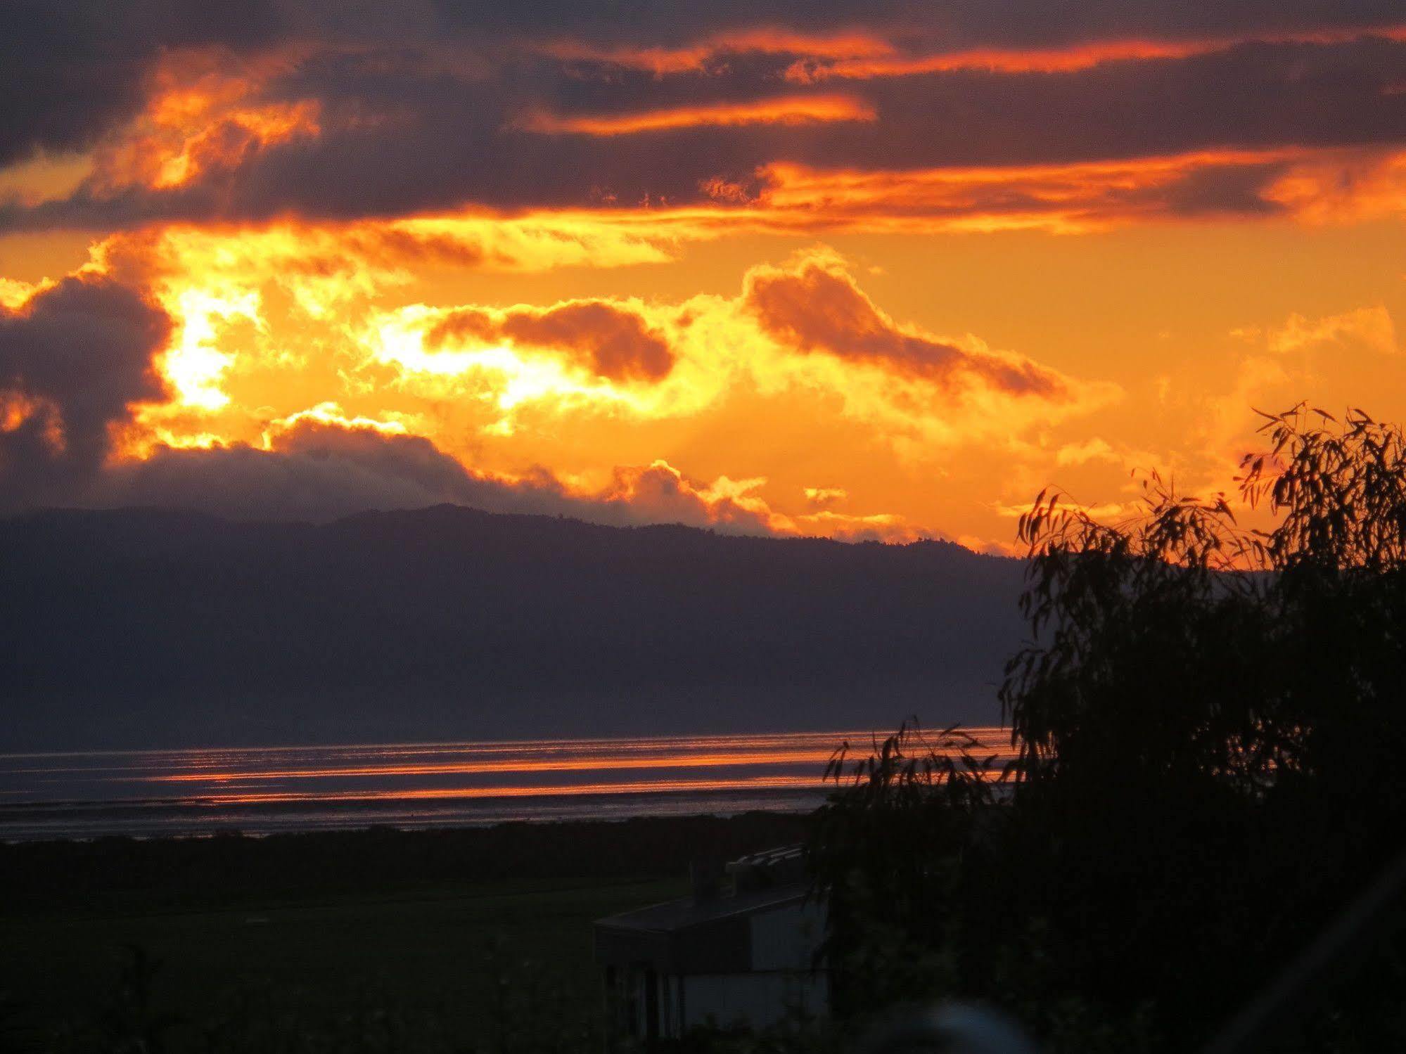
[[[103,243],[84,273],[143,287],[170,326],[143,351],[159,382],[104,419],[111,457],[86,500],[257,514],[271,495],[290,516],[451,500],[905,541],[931,528],[844,471],[808,492],[785,468],[769,482],[747,471],[745,443],[702,481],[683,467],[710,433],[755,429],[765,444],[797,415],[904,462],[1005,443],[1109,398],[1108,385],[896,320],[824,250],[749,268],[733,295],[433,306],[419,298],[453,287],[405,273],[396,232],[278,222]],[[37,413],[48,410],[10,401],[3,417],[22,427]]]

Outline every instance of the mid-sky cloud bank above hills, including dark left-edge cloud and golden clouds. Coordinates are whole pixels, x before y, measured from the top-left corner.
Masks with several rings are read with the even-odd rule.
[[[472,468],[464,454],[439,445],[451,431],[426,430],[409,409],[368,417],[322,402],[250,416],[245,401],[225,392],[231,375],[267,371],[283,389],[308,368],[281,351],[285,320],[262,313],[273,299],[273,273],[245,275],[247,287],[225,273],[214,287],[218,297],[170,288],[157,275],[169,280],[173,260],[134,263],[136,253],[159,256],[162,245],[139,240],[114,250],[160,295],[93,266],[28,289],[0,313],[0,509],[152,505],[325,521],[361,509],[458,503],[744,534],[931,535],[900,516],[849,512],[839,488],[806,488],[783,512],[759,493],[765,478],[700,482],[661,458],[617,465],[593,483],[540,465]],[[314,243],[307,252],[316,259],[321,249]],[[374,289],[343,291],[342,308],[325,311],[326,274],[287,263],[274,271],[294,304],[307,301],[295,312],[305,340],[340,336],[339,354],[370,371],[373,391],[392,401],[399,392],[406,406],[429,399],[441,415],[461,408],[485,434],[510,434],[524,420],[553,416],[666,420],[725,403],[740,385],[827,389],[848,413],[894,436],[927,429],[934,406],[946,408],[943,429],[952,429],[963,419],[974,427],[993,399],[1049,419],[1078,412],[1092,398],[1085,385],[1019,356],[897,323],[827,252],[749,270],[735,298],[395,312],[375,306]],[[349,326],[359,316],[361,327]],[[314,323],[322,329],[308,330]],[[359,336],[347,337],[349,330]],[[232,349],[236,333],[252,343],[232,354],[204,343]],[[921,408],[915,392],[925,393]]]

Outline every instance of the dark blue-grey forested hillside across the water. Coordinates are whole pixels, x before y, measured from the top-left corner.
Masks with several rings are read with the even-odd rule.
[[[1021,565],[457,506],[0,521],[0,749],[995,718]]]

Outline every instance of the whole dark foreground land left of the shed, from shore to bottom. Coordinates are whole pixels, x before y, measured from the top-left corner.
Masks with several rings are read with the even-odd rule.
[[[0,846],[0,1050],[599,1050],[592,919],[803,824]]]

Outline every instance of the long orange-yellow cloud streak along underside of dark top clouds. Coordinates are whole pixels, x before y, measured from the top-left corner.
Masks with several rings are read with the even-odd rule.
[[[1198,180],[1243,180],[1243,198],[1198,201]],[[1406,150],[1392,148],[1264,148],[1191,150],[1053,164],[927,169],[818,169],[766,164],[745,180],[713,177],[696,205],[488,209],[406,219],[285,221],[249,228],[290,260],[305,246],[326,254],[305,270],[447,263],[489,270],[571,264],[664,263],[676,246],[738,233],[949,233],[1043,230],[1080,235],[1188,215],[1253,221],[1289,216],[1347,223],[1406,215]],[[188,238],[222,228],[181,228]],[[273,233],[281,232],[288,249]]]

